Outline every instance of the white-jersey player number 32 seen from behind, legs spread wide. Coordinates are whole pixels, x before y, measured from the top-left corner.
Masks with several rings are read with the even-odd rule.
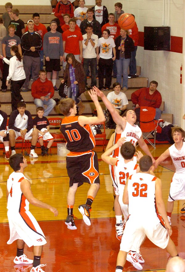
[[[162,199],[161,180],[150,174],[152,159],[147,155],[143,156],[139,161],[139,167],[139,173],[127,179],[123,193],[123,203],[129,204],[130,215],[121,239],[116,272],[122,272],[127,253],[133,246],[135,251],[139,252],[145,235],[156,246],[166,248],[172,257],[178,256],[174,242],[170,238],[172,229]]]

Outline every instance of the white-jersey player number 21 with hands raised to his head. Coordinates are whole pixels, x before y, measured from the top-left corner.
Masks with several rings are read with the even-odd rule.
[[[134,156],[136,149],[134,145],[130,142],[125,142],[126,138],[120,138],[117,143],[110,147],[108,150],[105,151],[104,154],[101,155],[103,161],[107,162],[109,165],[114,167],[115,179],[113,182],[114,190],[116,197],[118,198],[118,203],[121,207],[121,222],[122,222],[122,214],[124,215],[124,225],[126,223],[128,217],[128,205],[123,203],[123,191],[125,188],[125,183],[127,178],[139,171],[137,160],[143,156],[140,151],[136,153]],[[123,142],[125,142],[123,144]],[[113,158],[112,152],[115,149],[121,150],[121,157]],[[118,240],[121,241],[123,235],[123,228],[122,224],[116,224],[116,237]],[[127,255],[127,260],[133,264],[133,266],[137,269],[142,269],[141,262],[143,263],[144,260],[140,253],[136,253],[134,248],[131,248],[131,251]]]

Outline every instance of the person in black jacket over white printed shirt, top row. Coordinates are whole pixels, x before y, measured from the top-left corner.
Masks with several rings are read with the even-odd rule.
[[[109,13],[106,6],[101,5],[101,2],[102,0],[96,0],[96,6],[93,6],[92,10],[94,12],[93,18],[96,19],[102,27],[109,22]]]

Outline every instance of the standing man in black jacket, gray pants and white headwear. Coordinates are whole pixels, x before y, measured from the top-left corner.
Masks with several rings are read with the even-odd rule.
[[[40,70],[40,50],[42,47],[41,36],[34,31],[34,21],[28,20],[28,31],[22,36],[23,65],[26,80],[23,84],[22,92],[29,90],[30,71],[32,70],[33,81],[39,77]]]

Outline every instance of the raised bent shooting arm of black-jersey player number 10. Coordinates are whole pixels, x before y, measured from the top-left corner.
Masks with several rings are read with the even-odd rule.
[[[101,105],[98,101],[96,91],[91,90],[90,92],[88,91],[88,93],[89,93],[89,95],[90,95],[90,97],[91,97],[92,101],[94,102],[94,105],[97,109],[97,116],[95,116],[95,117],[79,116],[78,122],[81,126],[84,126],[86,124],[96,125],[101,122],[105,122],[105,115],[104,115]]]

